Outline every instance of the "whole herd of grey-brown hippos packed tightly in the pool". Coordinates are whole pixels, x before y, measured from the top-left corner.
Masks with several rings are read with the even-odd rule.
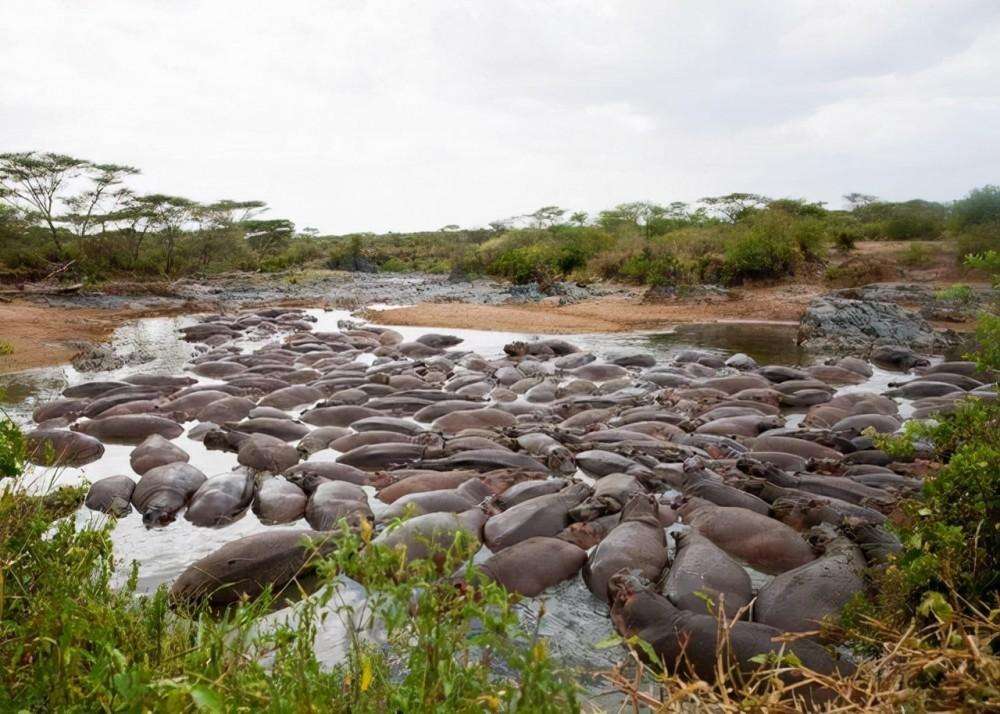
[[[134,445],[138,480],[102,478],[86,504],[135,509],[147,528],[181,514],[222,527],[251,509],[310,526],[229,542],[180,575],[177,600],[224,607],[281,589],[308,569],[310,541],[336,547],[344,521],[368,521],[408,559],[464,531],[488,549],[481,571],[525,597],[579,573],[619,634],[668,667],[715,676],[721,613],[739,667],[784,647],[830,673],[850,664],[819,623],[900,547],[886,519],[921,488],[920,462],[873,443],[901,426],[893,397],[918,417],[996,397],[973,363],[898,348],[881,358],[917,373],[878,394],[856,391],[872,369],[852,357],[793,368],[689,350],[658,363],[542,339],[491,359],[450,335],[314,321],[289,308],[203,316],[182,328],[190,375],[66,389],[34,413],[32,458],[81,465],[105,443]],[[206,476],[172,443],[182,434],[234,453],[233,469]],[[773,577],[755,589],[747,568]],[[774,640],[788,632],[813,634]]]

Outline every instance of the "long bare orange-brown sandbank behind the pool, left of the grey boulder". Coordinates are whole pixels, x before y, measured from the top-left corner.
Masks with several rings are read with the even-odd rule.
[[[571,305],[421,303],[411,307],[367,310],[364,316],[387,325],[553,334],[627,332],[682,322],[795,322],[809,300],[820,292],[819,286],[798,284],[737,290],[733,291],[733,299],[719,302],[688,299],[643,303],[622,297],[605,297]]]

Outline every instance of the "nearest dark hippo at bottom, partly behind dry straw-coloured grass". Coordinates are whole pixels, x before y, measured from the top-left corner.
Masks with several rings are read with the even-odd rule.
[[[649,643],[656,658],[645,651],[639,655],[655,667],[665,667],[672,674],[694,674],[708,682],[718,675],[719,622],[705,615],[675,607],[657,593],[642,577],[621,572],[612,576],[611,622],[624,638],[636,637]],[[839,663],[819,644],[810,640],[785,642],[783,633],[768,625],[737,620],[728,628],[726,650],[742,676],[761,667],[767,655],[790,652],[802,666],[821,675],[850,674],[853,668]],[[726,666],[725,661],[723,666]],[[779,675],[789,684],[800,683],[798,691],[814,705],[830,701],[833,694],[818,685],[801,685],[801,674],[784,668]]]

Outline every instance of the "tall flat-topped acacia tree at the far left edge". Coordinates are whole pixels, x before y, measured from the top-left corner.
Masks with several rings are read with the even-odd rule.
[[[92,164],[66,154],[25,151],[0,154],[0,200],[43,222],[62,252],[56,215],[61,193]]]

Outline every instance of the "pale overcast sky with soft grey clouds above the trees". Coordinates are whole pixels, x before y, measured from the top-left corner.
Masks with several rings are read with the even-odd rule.
[[[1000,183],[1000,2],[0,0],[0,151],[323,233]]]

